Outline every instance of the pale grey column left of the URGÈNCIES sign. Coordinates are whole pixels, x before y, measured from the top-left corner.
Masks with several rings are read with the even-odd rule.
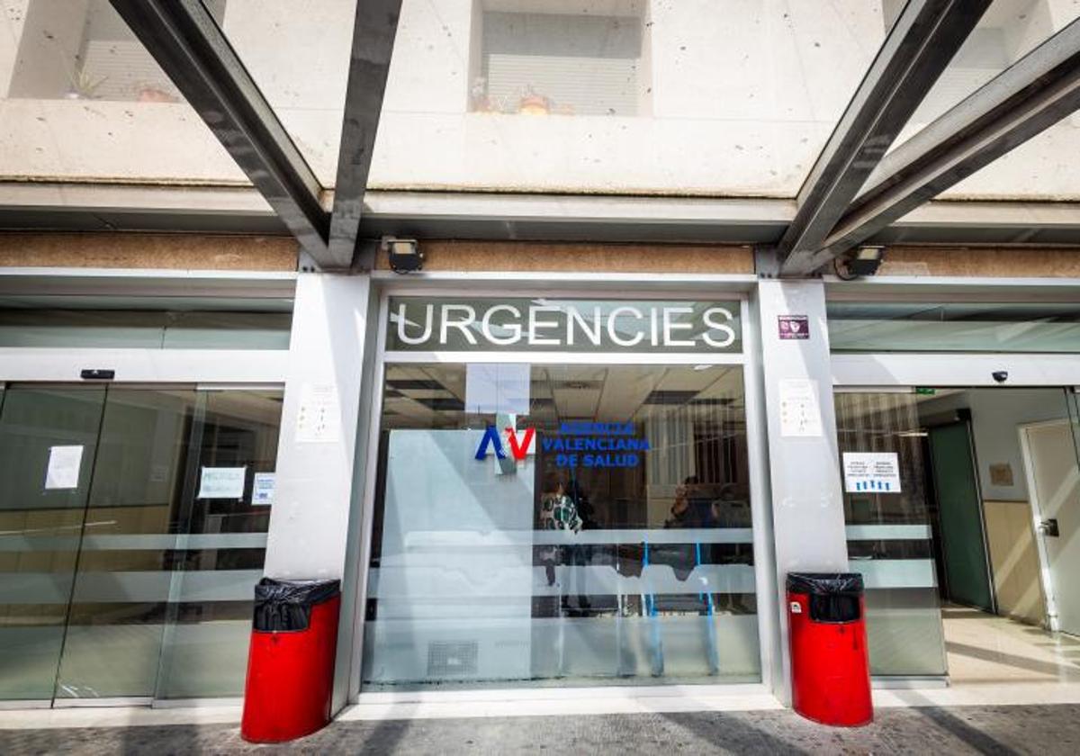
[[[341,579],[335,712],[348,697],[356,630],[376,313],[367,275],[297,280],[265,573]]]

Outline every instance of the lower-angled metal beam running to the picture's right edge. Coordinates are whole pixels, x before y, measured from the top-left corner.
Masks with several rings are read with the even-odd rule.
[[[1078,108],[1075,21],[890,152],[810,265],[842,255]]]

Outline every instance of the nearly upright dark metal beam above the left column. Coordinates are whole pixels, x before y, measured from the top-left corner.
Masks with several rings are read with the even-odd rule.
[[[375,134],[390,72],[402,0],[361,0],[352,30],[349,85],[346,90],[341,148],[338,152],[329,255],[323,267],[348,268],[356,251],[364,191],[372,167]],[[369,255],[357,260],[367,268]]]

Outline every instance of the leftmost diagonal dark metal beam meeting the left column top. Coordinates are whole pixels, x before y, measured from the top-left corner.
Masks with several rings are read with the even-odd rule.
[[[110,2],[303,248],[327,259],[319,181],[202,2]]]

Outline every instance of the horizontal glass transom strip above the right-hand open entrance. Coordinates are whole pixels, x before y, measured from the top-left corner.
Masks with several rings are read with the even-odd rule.
[[[1080,352],[1075,302],[828,303],[834,352]]]

